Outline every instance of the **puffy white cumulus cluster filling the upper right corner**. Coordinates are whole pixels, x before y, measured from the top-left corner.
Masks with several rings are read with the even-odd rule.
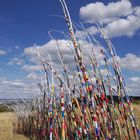
[[[98,22],[104,25],[104,30],[109,37],[132,36],[140,29],[140,6],[132,6],[129,0],[90,3],[80,8],[80,17],[86,23]],[[91,27],[95,28],[94,25]],[[92,34],[98,30],[88,30]]]

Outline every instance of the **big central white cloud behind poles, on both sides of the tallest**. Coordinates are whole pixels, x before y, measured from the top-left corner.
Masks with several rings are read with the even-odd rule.
[[[101,60],[103,58],[102,54],[100,53],[99,48],[94,46],[93,44],[89,44],[85,40],[78,40],[78,43],[81,45],[81,49],[84,56],[84,61],[89,64],[89,56],[88,54],[92,55],[92,48],[94,48],[94,53],[97,57],[97,60]],[[62,59],[68,67],[73,67],[75,64],[74,61],[74,53],[73,53],[73,46],[71,41],[69,40],[51,40],[44,45],[36,45],[29,48],[25,48],[24,53],[26,56],[29,57],[29,60],[33,62],[35,65],[24,65],[22,69],[27,71],[32,70],[41,70],[41,62],[39,56],[46,59],[49,63],[52,63],[54,67],[57,67],[59,70],[62,69],[60,57],[58,54],[58,48],[60,50],[60,55],[62,54]],[[50,56],[50,58],[49,58]],[[51,62],[50,62],[51,59]]]

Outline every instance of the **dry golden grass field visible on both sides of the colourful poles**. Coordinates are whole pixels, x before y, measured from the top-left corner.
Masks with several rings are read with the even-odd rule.
[[[140,128],[140,103],[134,104],[134,112]],[[13,133],[13,113],[0,113],[0,140],[29,140],[23,135]]]

